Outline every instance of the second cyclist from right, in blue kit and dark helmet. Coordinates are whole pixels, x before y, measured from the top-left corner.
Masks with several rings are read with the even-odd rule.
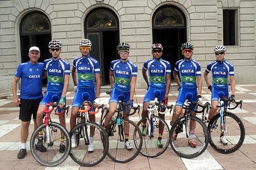
[[[192,59],[194,45],[191,43],[183,43],[181,45],[182,55],[184,59],[179,60],[175,64],[174,79],[179,86],[179,95],[175,105],[175,113],[172,117],[172,123],[180,117],[183,104],[186,100],[196,102],[199,100],[202,103],[202,78],[201,78],[201,65]],[[180,79],[178,77],[180,75]],[[195,108],[190,110],[190,114],[195,116]],[[197,147],[197,143],[193,140],[195,136],[196,122],[190,122],[190,136],[188,143],[190,147]]]

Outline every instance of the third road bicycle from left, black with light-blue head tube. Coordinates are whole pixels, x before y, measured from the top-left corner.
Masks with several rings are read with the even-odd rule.
[[[106,92],[106,94],[110,94],[110,92]],[[133,160],[138,156],[142,147],[142,134],[139,127],[130,119],[123,118],[122,111],[125,109],[129,109],[129,102],[122,103],[119,102],[117,105],[117,116],[112,117],[112,121],[106,127],[106,132],[109,136],[109,152],[108,156],[114,160],[115,162],[125,163]],[[132,113],[128,114],[133,115],[137,112],[139,113],[140,106],[133,107],[134,110]],[[104,119],[106,114],[109,113],[109,108],[105,107],[102,110],[102,114],[100,117],[100,125],[103,126]],[[125,134],[125,128],[129,128],[129,132]],[[126,149],[124,147],[125,139],[124,137],[129,137],[129,142],[131,144],[132,149]]]

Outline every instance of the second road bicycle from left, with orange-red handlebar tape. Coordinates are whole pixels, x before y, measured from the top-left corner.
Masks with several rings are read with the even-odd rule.
[[[70,157],[81,166],[94,166],[100,163],[109,150],[109,140],[104,129],[88,119],[88,114],[96,114],[104,105],[95,107],[93,103],[83,102],[78,110],[78,124],[71,130],[70,136],[75,136],[76,146],[71,148]],[[90,111],[96,108],[95,111]],[[90,137],[91,135],[91,137]],[[93,137],[92,137],[93,136]],[[88,151],[93,142],[94,151]]]

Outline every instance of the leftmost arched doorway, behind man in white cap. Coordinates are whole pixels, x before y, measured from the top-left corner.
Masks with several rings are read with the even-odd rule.
[[[22,62],[29,61],[28,53],[31,46],[39,47],[39,62],[50,58],[48,43],[51,40],[51,24],[44,13],[33,11],[26,14],[20,22],[19,35]],[[42,82],[46,85],[47,79]]]

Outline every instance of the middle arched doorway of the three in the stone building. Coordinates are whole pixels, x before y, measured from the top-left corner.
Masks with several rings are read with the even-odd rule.
[[[100,63],[101,84],[109,84],[109,69],[116,60],[119,43],[119,21],[108,8],[96,8],[89,12],[84,22],[84,35],[92,41],[91,56]]]

